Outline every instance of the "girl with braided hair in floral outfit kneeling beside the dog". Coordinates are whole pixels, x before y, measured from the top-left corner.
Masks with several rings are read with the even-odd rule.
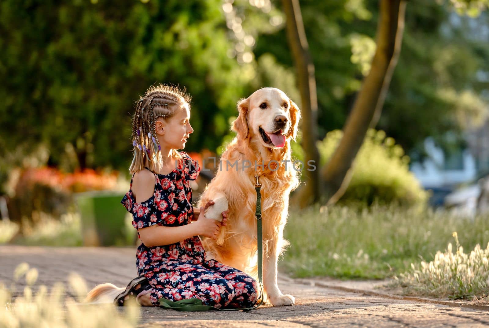
[[[133,215],[141,245],[136,252],[139,277],[114,302],[123,305],[136,295],[140,305],[159,305],[199,298],[204,305],[245,308],[256,304],[258,285],[247,274],[215,260],[205,260],[199,235],[216,238],[226,224],[203,218],[192,207],[190,180],[198,163],[183,149],[189,135],[190,96],[177,87],[151,87],[136,105],[133,117],[134,158],[129,192],[121,203]],[[200,214],[202,214],[201,218]]]

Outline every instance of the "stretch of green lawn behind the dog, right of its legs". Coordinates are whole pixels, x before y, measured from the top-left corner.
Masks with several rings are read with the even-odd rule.
[[[290,246],[281,266],[294,277],[383,279],[411,263],[432,260],[452,241],[467,249],[489,241],[487,216],[458,217],[447,211],[399,206],[291,209],[285,228]]]

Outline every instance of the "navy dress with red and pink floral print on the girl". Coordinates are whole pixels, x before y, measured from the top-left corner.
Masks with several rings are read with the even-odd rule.
[[[140,229],[155,224],[177,227],[192,222],[190,180],[197,179],[200,167],[187,153],[180,154],[182,160],[170,174],[154,173],[155,192],[148,200],[139,203],[134,200],[131,179],[131,187],[121,203],[133,215],[138,237]],[[259,297],[253,278],[216,260],[205,260],[199,236],[154,247],[141,242],[136,267],[138,275],[144,274],[151,284],[151,303],[156,306],[163,297],[171,301],[199,298],[204,305],[246,308],[255,305]]]

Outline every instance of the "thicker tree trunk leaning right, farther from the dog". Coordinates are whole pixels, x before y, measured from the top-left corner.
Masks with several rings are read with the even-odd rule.
[[[369,127],[375,127],[397,65],[404,31],[405,0],[381,0],[377,49],[370,73],[363,80],[353,109],[343,128],[343,138],[331,160],[322,168],[323,203],[334,204],[345,192],[352,164]]]

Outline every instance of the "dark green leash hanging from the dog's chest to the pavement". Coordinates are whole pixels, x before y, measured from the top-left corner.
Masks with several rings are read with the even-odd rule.
[[[262,272],[262,263],[263,263],[263,244],[262,244],[262,194],[260,193],[260,189],[262,185],[258,182],[258,175],[255,174],[256,183],[256,210],[255,210],[255,218],[256,218],[256,232],[257,232],[257,243],[258,243],[258,284],[260,285],[261,292],[261,300],[259,303],[252,307],[246,308],[225,308],[221,309],[211,305],[203,305],[202,300],[198,298],[192,298],[187,300],[179,300],[177,302],[167,300],[165,298],[160,298],[158,300],[159,307],[162,308],[171,308],[177,311],[208,311],[208,310],[218,310],[218,311],[245,311],[248,312],[253,310],[263,303],[265,303],[265,298],[263,297],[263,272]]]

